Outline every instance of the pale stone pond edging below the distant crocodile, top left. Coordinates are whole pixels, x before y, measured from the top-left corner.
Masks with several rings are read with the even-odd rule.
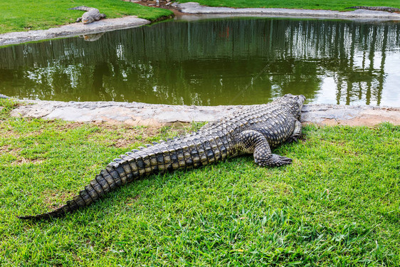
[[[71,23],[57,28],[38,31],[19,31],[0,34],[0,46],[7,46],[16,43],[46,40],[51,38],[66,38],[77,35],[88,35],[105,31],[114,31],[122,28],[135,28],[151,21],[139,19],[137,16],[125,16],[117,19],[101,19],[89,24]]]

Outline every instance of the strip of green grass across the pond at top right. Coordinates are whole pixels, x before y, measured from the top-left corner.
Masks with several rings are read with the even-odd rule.
[[[191,2],[191,0],[179,0],[181,3]],[[330,9],[330,10],[349,10],[349,6],[392,6],[400,8],[398,0],[196,0],[205,6],[230,6],[230,7],[265,7],[283,9]]]

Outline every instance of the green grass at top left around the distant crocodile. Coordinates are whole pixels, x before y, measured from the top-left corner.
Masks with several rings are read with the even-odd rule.
[[[135,15],[155,20],[172,11],[140,6],[120,0],[0,0],[0,33],[51,28],[73,23],[84,11],[68,10],[74,6],[92,6],[107,18]]]

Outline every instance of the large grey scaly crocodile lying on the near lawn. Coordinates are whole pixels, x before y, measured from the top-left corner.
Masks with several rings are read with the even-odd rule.
[[[275,155],[271,149],[293,142],[301,135],[300,114],[304,95],[287,94],[272,103],[251,105],[197,132],[174,140],[154,142],[120,155],[73,199],[60,208],[20,219],[50,219],[89,206],[118,187],[154,173],[191,169],[221,162],[230,157],[253,154],[260,167],[290,164],[292,159]]]

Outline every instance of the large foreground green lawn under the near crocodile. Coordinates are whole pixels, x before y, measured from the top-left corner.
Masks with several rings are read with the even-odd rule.
[[[0,266],[399,266],[400,127],[305,127],[275,153],[153,175],[64,219],[111,159],[178,129],[9,117],[1,100]],[[182,132],[182,130],[179,130]]]

